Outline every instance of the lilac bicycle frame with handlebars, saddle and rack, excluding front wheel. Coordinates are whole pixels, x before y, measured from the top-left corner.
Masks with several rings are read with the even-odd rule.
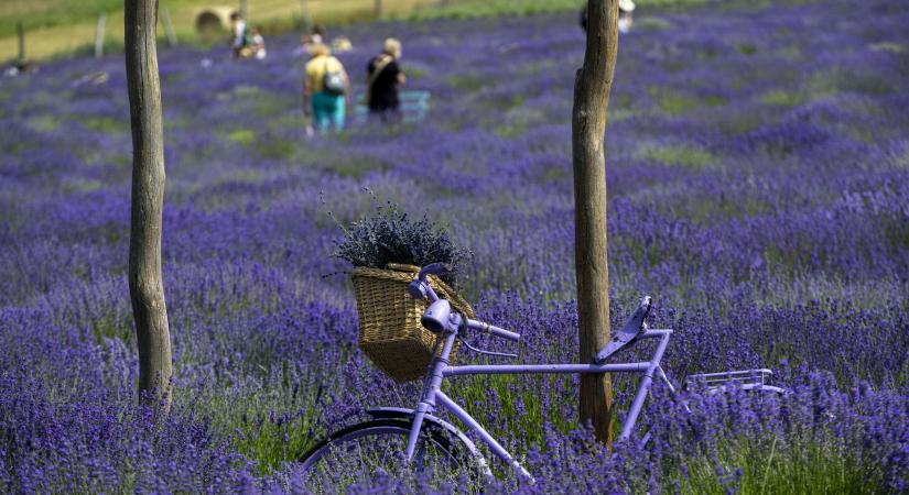
[[[598,374],[598,373],[636,373],[640,374],[641,380],[638,384],[635,398],[628,409],[628,415],[621,425],[619,433],[620,440],[628,440],[631,438],[632,430],[637,424],[638,417],[643,409],[643,402],[647,399],[647,394],[653,384],[654,378],[662,381],[675,394],[675,387],[667,377],[661,362],[665,349],[669,345],[669,340],[673,333],[669,329],[650,330],[647,328],[647,317],[650,312],[651,298],[645,296],[638,309],[631,315],[628,322],[615,334],[613,339],[600,349],[595,355],[591,356],[593,363],[591,364],[565,364],[565,363],[543,363],[543,364],[489,364],[489,365],[452,365],[450,356],[454,348],[455,340],[462,337],[462,333],[467,331],[477,331],[487,333],[489,336],[502,338],[513,342],[518,342],[521,336],[512,331],[483,322],[464,315],[453,311],[451,304],[445,299],[440,299],[435,290],[432,288],[426,279],[428,275],[437,275],[445,271],[445,266],[441,263],[433,263],[421,268],[420,274],[414,277],[413,282],[408,285],[408,294],[418,300],[428,299],[430,305],[423,311],[420,318],[420,323],[426,330],[435,333],[440,338],[436,340],[435,349],[433,349],[433,359],[430,362],[425,378],[423,380],[423,388],[420,394],[420,402],[414,409],[405,409],[401,407],[382,407],[377,409],[368,409],[366,413],[374,418],[394,418],[398,420],[409,420],[410,425],[403,424],[399,426],[397,435],[403,433],[401,429],[410,430],[407,432],[407,448],[405,455],[408,462],[413,461],[414,454],[418,451],[421,432],[424,425],[428,425],[429,430],[447,430],[448,433],[456,437],[456,441],[461,441],[469,454],[479,461],[484,473],[493,475],[488,466],[486,466],[485,459],[476,449],[474,442],[464,435],[454,425],[436,417],[433,413],[436,408],[448,410],[454,417],[459,419],[464,425],[467,425],[470,431],[474,431],[484,443],[489,446],[493,453],[496,454],[502,462],[515,469],[521,476],[527,477],[533,483],[533,476],[518,462],[508,450],[506,450],[476,419],[474,419],[467,411],[465,411],[457,403],[442,392],[442,383],[447,377],[464,376],[464,375],[497,375],[497,374]],[[621,349],[632,345],[640,340],[651,339],[657,340],[656,350],[650,356],[649,361],[637,361],[627,363],[606,363]],[[466,341],[465,346],[468,349],[487,354],[498,356],[517,358],[516,354],[505,354],[500,352],[484,351],[474,349]],[[787,391],[780,387],[766,385],[766,377],[771,372],[769,370],[745,370],[733,371],[725,373],[707,373],[691,376],[690,383],[707,386],[707,393],[721,393],[727,387],[740,386],[745,391],[755,391],[758,393],[770,392],[775,394],[783,394]],[[688,405],[683,403],[685,409]],[[690,410],[690,409],[689,409]],[[362,425],[371,425],[369,421]],[[402,428],[403,427],[403,428]],[[648,435],[640,439],[640,443],[647,442]],[[344,440],[344,438],[340,438]],[[318,449],[323,449],[329,444],[329,440],[320,444],[320,447],[310,454],[304,455],[304,460],[311,465],[311,455]],[[316,461],[318,458],[315,458]]]

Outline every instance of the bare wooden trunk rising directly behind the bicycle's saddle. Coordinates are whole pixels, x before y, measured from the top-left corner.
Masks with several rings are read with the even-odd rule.
[[[603,139],[616,65],[618,0],[587,0],[587,46],[574,81],[574,262],[581,361],[591,362],[609,339],[606,249],[606,158]],[[612,444],[613,391],[608,375],[581,375],[580,416]]]

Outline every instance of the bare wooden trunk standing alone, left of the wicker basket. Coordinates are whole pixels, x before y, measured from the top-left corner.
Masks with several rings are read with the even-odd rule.
[[[126,0],[126,55],[132,128],[129,293],[139,341],[139,392],[170,405],[171,336],[161,279],[164,140],[155,31],[158,0]],[[151,398],[151,397],[150,397]]]

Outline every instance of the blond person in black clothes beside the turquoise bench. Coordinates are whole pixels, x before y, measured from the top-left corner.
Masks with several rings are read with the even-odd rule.
[[[369,61],[366,67],[369,113],[381,118],[382,122],[397,120],[400,114],[398,87],[407,81],[398,65],[400,58],[401,42],[389,37],[385,41],[382,53]]]

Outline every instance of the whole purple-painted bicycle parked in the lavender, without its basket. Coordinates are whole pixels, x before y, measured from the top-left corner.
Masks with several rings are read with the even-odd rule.
[[[423,267],[416,279],[408,287],[415,299],[429,298],[430,306],[423,312],[421,323],[428,330],[442,336],[441,349],[429,365],[423,381],[423,389],[415,408],[381,407],[366,410],[367,420],[343,428],[320,441],[300,458],[301,469],[316,479],[338,477],[364,470],[382,470],[389,473],[396,469],[422,469],[443,466],[451,472],[470,472],[491,476],[491,470],[476,444],[457,427],[439,418],[433,413],[446,409],[472,430],[489,450],[505,464],[524,476],[531,483],[533,476],[505,449],[483,426],[442,391],[447,377],[478,374],[575,374],[575,373],[635,373],[641,375],[640,383],[621,425],[619,439],[629,439],[638,416],[643,407],[653,380],[662,381],[673,393],[675,387],[667,377],[660,362],[665,352],[672,330],[648,329],[651,299],[645,297],[628,322],[600,350],[593,364],[488,364],[452,365],[448,361],[456,339],[470,333],[486,333],[512,342],[521,336],[509,330],[465,318],[452,310],[447,300],[440,298],[426,276],[444,273],[444,265],[435,263]],[[612,363],[610,358],[619,350],[642,340],[657,341],[649,361]],[[516,354],[483,351],[462,343],[469,350],[489,354],[517,358]],[[685,386],[700,386],[706,394],[715,394],[733,386],[753,392],[782,394],[783,389],[766,384],[769,370],[747,370],[727,373],[710,373],[689,376]],[[640,438],[647,441],[647,436]]]

